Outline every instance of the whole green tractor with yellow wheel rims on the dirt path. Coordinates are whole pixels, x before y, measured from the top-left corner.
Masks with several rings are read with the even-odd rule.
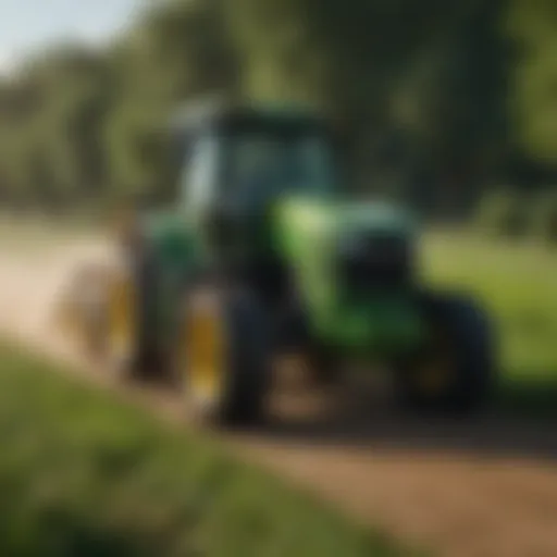
[[[260,420],[272,363],[290,352],[320,382],[345,362],[387,364],[405,408],[479,408],[493,380],[485,313],[419,284],[412,219],[349,198],[326,122],[219,106],[173,133],[175,206],[124,226],[121,264],[79,318],[106,367],[178,379],[206,423]]]

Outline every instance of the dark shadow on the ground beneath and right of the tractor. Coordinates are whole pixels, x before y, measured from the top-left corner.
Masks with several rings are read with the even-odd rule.
[[[345,405],[323,416],[273,419],[265,441],[346,448],[394,448],[557,461],[557,373],[500,386],[491,408],[474,417],[417,417],[384,400]]]

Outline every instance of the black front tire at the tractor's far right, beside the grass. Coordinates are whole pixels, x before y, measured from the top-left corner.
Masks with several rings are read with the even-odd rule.
[[[471,299],[454,295],[426,295],[422,310],[429,332],[443,335],[443,346],[432,334],[421,354],[397,370],[397,395],[405,409],[469,413],[488,400],[495,384],[493,329],[486,312]],[[431,393],[420,388],[424,364],[443,351],[446,384]]]

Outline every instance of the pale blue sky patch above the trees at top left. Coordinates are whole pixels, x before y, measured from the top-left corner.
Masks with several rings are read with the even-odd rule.
[[[146,0],[0,0],[0,72],[54,41],[101,44]]]

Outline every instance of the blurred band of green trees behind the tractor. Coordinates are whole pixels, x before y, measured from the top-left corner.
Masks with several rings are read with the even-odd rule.
[[[104,49],[62,45],[0,79],[0,202],[166,198],[159,123],[215,91],[320,107],[364,184],[429,175],[467,199],[512,149],[555,168],[556,26],[550,0],[153,2]]]

